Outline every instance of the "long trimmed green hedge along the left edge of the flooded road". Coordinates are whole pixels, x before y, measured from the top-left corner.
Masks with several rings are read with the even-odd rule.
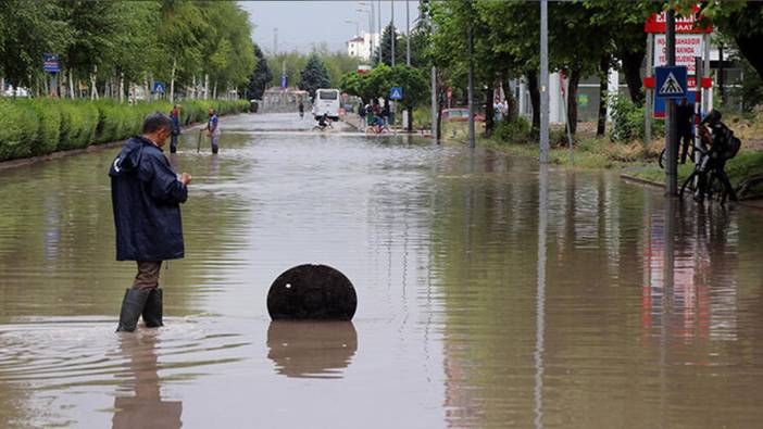
[[[209,108],[221,115],[249,109],[247,101],[185,101],[183,125],[205,121]],[[140,130],[152,112],[168,113],[168,102],[120,104],[111,100],[0,99],[0,161],[123,140]]]

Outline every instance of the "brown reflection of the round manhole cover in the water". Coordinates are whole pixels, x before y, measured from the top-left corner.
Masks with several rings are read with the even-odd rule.
[[[272,321],[267,349],[280,375],[341,378],[358,351],[358,333],[351,321]]]

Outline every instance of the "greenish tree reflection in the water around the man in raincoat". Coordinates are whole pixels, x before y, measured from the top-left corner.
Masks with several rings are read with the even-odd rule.
[[[113,314],[118,308],[135,266],[114,261],[108,166],[117,151],[114,148],[2,173],[0,276],[4,299],[0,300],[0,314],[80,316]],[[177,160],[195,175],[191,187],[210,181],[220,185],[221,169],[243,174],[249,167],[221,166],[216,156],[180,155]],[[250,205],[239,200],[229,193],[191,189],[189,202],[182,209],[186,253],[191,261],[172,262],[160,280],[170,289],[167,304],[175,314],[189,311],[189,296],[183,291],[208,277],[207,262],[224,260],[232,244],[245,239],[238,224]],[[98,293],[83,293],[90,290]]]

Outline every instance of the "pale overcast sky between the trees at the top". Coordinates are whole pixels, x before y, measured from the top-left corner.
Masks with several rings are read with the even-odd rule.
[[[332,51],[343,51],[346,42],[355,34],[357,21],[361,33],[368,30],[368,14],[358,12],[361,3],[374,4],[377,0],[343,1],[239,1],[249,12],[254,25],[254,41],[266,54],[273,52],[273,28],[278,28],[278,51],[309,52],[314,45],[326,42]],[[405,0],[395,0],[395,26],[405,31]],[[367,9],[367,7],[365,7]],[[411,27],[418,13],[418,1],[410,0]],[[382,27],[389,24],[390,1],[382,1]],[[376,23],[374,23],[376,26]]]

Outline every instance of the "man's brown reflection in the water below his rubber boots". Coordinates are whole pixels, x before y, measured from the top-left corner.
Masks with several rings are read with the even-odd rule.
[[[120,336],[120,353],[127,358],[128,378],[121,390],[132,391],[132,396],[114,399],[115,429],[163,428],[183,426],[183,402],[162,400],[159,365],[157,363],[154,332]]]

